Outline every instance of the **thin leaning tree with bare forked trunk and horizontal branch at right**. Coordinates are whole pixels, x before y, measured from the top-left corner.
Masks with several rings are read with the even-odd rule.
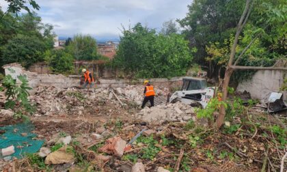
[[[226,67],[226,72],[225,72],[224,80],[223,80],[222,100],[224,102],[227,100],[228,85],[230,82],[230,77],[232,76],[232,73],[234,72],[234,70],[286,70],[287,71],[287,68],[276,68],[274,66],[271,66],[271,67],[237,66],[238,61],[240,61],[241,57],[243,57],[243,55],[246,53],[248,48],[262,34],[261,32],[257,33],[254,36],[254,38],[249,42],[249,44],[243,49],[243,51],[241,51],[241,53],[236,57],[236,46],[238,45],[238,40],[239,40],[241,31],[243,31],[243,28],[245,27],[247,20],[251,14],[251,10],[252,10],[253,5],[254,5],[253,0],[246,0],[245,9],[243,11],[243,14],[241,15],[241,18],[238,22],[238,26],[236,28],[234,43],[233,43],[232,48],[230,50],[230,58],[228,60],[228,65]],[[267,11],[270,13],[269,18],[264,18],[264,20],[267,21],[268,25],[270,25],[270,24],[272,25],[273,23],[277,23],[277,22],[286,23],[287,18],[286,18],[286,16],[284,16],[284,14],[282,14],[282,12],[284,12],[286,10],[286,5],[285,5],[285,7],[281,8],[282,10],[280,10],[279,8],[276,10],[274,10],[274,8],[269,8],[269,9],[272,9],[272,10]],[[275,16],[273,14],[275,14]],[[264,29],[266,29],[266,27]],[[220,128],[221,125],[223,124],[225,115],[226,115],[226,107],[221,104],[220,111],[219,111],[219,117],[217,118],[217,121],[216,121],[217,128]]]

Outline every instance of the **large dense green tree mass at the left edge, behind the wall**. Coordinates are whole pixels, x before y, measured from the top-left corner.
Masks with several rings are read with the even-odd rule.
[[[36,13],[5,14],[0,20],[0,65],[19,62],[29,67],[42,61],[42,53],[53,48],[52,30],[53,26],[41,23]]]

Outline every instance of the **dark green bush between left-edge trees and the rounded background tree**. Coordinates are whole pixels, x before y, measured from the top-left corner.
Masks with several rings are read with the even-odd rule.
[[[44,60],[54,73],[70,74],[74,72],[73,57],[64,50],[48,50]]]

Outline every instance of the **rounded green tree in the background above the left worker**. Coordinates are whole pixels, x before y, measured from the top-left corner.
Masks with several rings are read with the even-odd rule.
[[[77,60],[97,59],[96,40],[90,35],[74,35],[72,42],[67,46],[68,52]]]

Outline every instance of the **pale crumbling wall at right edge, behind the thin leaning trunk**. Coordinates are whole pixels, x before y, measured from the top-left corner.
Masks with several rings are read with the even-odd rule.
[[[259,70],[250,80],[238,84],[237,91],[248,91],[252,98],[267,100],[271,92],[282,87],[287,72],[279,70]]]

